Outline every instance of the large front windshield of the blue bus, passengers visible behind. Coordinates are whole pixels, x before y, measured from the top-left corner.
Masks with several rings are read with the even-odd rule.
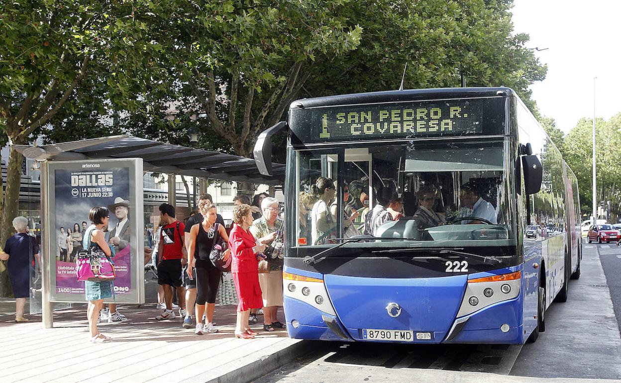
[[[370,235],[385,239],[346,246],[515,244],[507,145],[504,140],[426,140],[289,148],[290,181],[296,185],[289,243],[327,247]]]

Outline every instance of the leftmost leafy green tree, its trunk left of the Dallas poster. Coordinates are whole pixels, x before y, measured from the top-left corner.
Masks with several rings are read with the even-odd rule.
[[[136,106],[136,94],[158,88],[162,34],[178,2],[14,0],[0,4],[0,130],[24,145],[89,99]],[[178,19],[178,17],[176,17]],[[78,93],[78,91],[80,91]],[[97,99],[95,101],[94,99]],[[17,215],[22,156],[13,148],[2,201],[0,241]]]

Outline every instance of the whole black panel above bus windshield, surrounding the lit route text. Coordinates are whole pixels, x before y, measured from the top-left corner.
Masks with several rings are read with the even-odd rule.
[[[302,142],[504,134],[504,100],[395,102],[291,110]]]

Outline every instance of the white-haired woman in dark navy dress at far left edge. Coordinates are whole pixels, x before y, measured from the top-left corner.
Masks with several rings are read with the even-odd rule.
[[[28,220],[25,217],[16,217],[13,227],[17,233],[6,240],[0,259],[9,261],[7,269],[15,297],[15,321],[28,322],[24,318],[24,307],[26,298],[30,297],[30,263],[33,256],[39,257],[39,246],[37,240],[26,233]]]

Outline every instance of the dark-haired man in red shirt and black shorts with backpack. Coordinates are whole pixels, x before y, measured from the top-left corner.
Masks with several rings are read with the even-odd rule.
[[[164,288],[166,309],[155,317],[156,320],[175,319],[173,311],[173,288],[176,289],[180,311],[185,311],[185,292],[183,288],[183,267],[188,263],[188,252],[184,245],[183,222],[175,219],[175,207],[160,205],[161,234],[158,245],[158,284]]]

